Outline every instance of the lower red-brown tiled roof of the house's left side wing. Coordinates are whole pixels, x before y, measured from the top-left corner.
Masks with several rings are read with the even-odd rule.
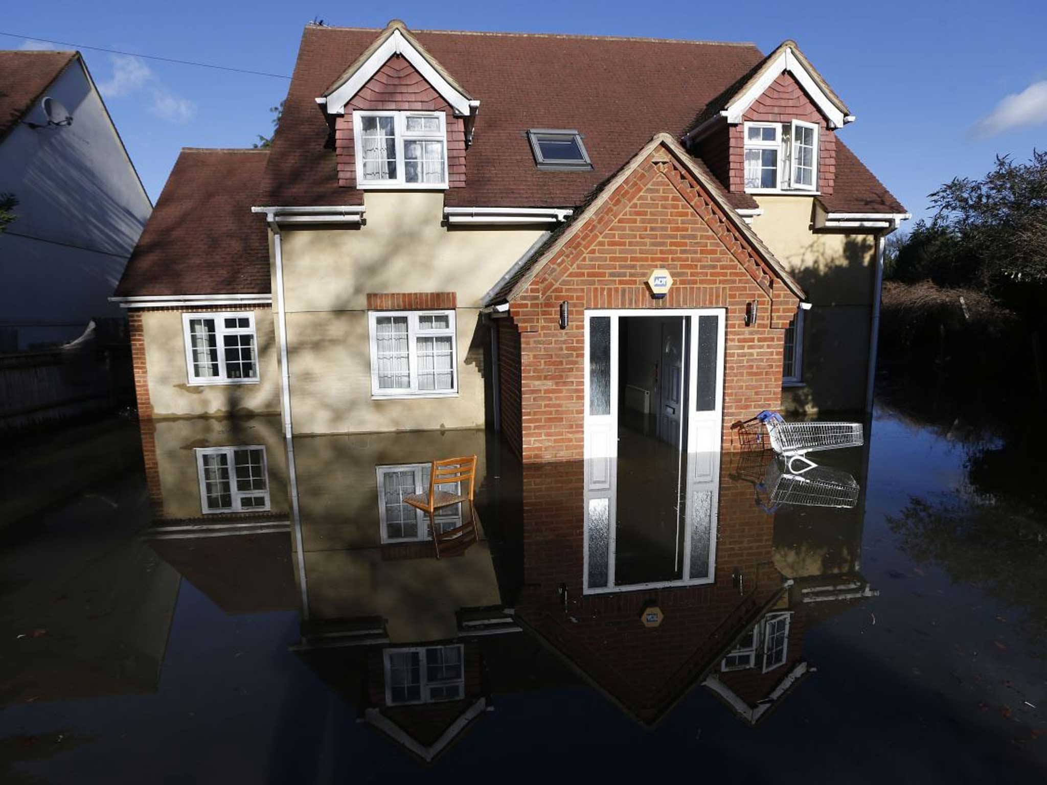
[[[116,295],[268,293],[265,220],[250,211],[268,157],[182,150]]]

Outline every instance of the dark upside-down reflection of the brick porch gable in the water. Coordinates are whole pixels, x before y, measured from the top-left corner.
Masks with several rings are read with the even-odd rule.
[[[774,516],[754,503],[752,485],[731,478],[734,457],[721,462],[714,583],[588,596],[582,595],[582,462],[524,466],[525,588],[516,618],[644,721],[655,720],[710,669],[718,672],[725,648],[782,587],[771,563]],[[744,596],[733,585],[735,568]],[[656,628],[640,621],[649,604],[664,613]]]

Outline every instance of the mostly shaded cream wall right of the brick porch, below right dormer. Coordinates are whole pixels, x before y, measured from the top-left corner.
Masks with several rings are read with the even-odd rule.
[[[809,414],[865,405],[875,285],[872,233],[811,230],[815,197],[757,196],[753,229],[793,274],[811,309],[804,314],[803,384],[783,407]]]

